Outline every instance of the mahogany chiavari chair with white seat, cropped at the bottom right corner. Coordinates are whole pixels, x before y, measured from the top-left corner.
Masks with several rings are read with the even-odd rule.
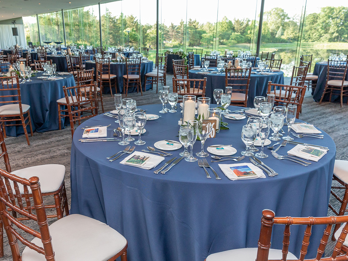
[[[337,242],[334,246],[334,250],[330,256],[324,257],[325,247],[329,240],[330,231],[333,224],[343,223],[348,221],[348,216],[328,216],[328,217],[275,217],[273,211],[265,209],[262,211],[261,218],[261,230],[258,240],[257,248],[239,248],[234,250],[228,250],[224,252],[214,253],[206,258],[206,261],[227,261],[227,260],[245,260],[245,261],[282,261],[282,260],[301,260],[301,261],[332,261],[340,260],[347,261],[347,246],[345,240],[348,232],[348,224],[345,224],[341,228],[342,232],[338,235]],[[323,236],[320,242],[311,242],[310,236],[313,226],[326,225]],[[284,227],[283,236],[283,248],[273,249],[271,247],[272,230],[282,229]],[[285,226],[284,226],[285,225]],[[302,247],[298,253],[299,259],[291,252],[288,251],[290,244],[290,227],[292,226],[305,226],[304,235],[302,240]],[[298,229],[294,228],[293,229]],[[315,259],[305,259],[308,245],[318,244],[317,255]]]

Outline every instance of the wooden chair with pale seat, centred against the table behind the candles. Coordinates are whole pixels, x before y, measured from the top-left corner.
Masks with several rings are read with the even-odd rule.
[[[225,86],[232,87],[231,105],[246,107],[250,84],[251,68],[226,68]]]

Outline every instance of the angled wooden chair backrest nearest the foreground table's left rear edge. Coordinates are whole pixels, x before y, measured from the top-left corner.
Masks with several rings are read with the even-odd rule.
[[[88,90],[86,92],[86,89]],[[97,83],[85,84],[80,86],[63,86],[63,91],[68,106],[71,139],[74,134],[74,123],[98,115],[97,111]],[[72,98],[70,98],[72,97]],[[72,108],[74,107],[74,110]],[[90,111],[90,114],[87,113]]]

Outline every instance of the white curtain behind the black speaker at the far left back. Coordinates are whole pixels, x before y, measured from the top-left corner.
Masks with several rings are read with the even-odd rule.
[[[24,25],[17,24],[18,36],[12,35],[12,27],[11,24],[0,24],[0,50],[6,49],[8,46],[16,45],[16,37],[17,44],[19,46],[26,46],[26,39],[24,33]]]

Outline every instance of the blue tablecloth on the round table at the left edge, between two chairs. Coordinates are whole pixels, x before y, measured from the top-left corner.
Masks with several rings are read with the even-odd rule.
[[[37,77],[42,76],[42,73],[37,73]],[[30,117],[33,131],[47,132],[48,130],[55,130],[59,128],[58,125],[58,105],[57,100],[64,97],[63,86],[74,86],[75,81],[73,76],[64,75],[59,77],[66,77],[66,79],[56,81],[44,81],[31,77],[31,82],[20,84],[21,98],[23,104],[30,105]],[[64,120],[62,119],[62,127],[64,127]],[[29,125],[27,130],[30,133]],[[22,126],[8,126],[6,127],[6,135],[18,136],[24,134]]]

